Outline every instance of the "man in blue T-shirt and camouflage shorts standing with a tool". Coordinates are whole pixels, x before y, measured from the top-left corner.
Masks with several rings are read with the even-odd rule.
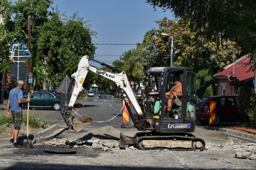
[[[19,145],[17,139],[22,120],[22,104],[30,102],[30,96],[27,97],[27,100],[22,100],[22,88],[24,88],[24,82],[22,80],[19,80],[18,86],[10,90],[9,99],[6,107],[7,112],[5,114],[5,116],[9,118],[11,111],[11,116],[13,117],[14,129],[11,134],[10,143],[13,143],[14,147],[17,147]]]

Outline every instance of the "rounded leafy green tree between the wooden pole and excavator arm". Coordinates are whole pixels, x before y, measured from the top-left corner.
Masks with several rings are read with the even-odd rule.
[[[93,56],[95,46],[91,36],[94,34],[77,14],[63,22],[59,13],[52,13],[51,19],[40,29],[37,42],[38,59],[35,59],[34,69],[38,77],[44,77],[40,83],[46,81],[57,85],[60,77],[71,76],[84,54]]]

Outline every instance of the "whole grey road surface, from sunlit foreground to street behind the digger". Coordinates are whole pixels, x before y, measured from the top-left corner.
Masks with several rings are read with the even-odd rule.
[[[122,107],[120,100],[96,100],[88,98],[82,108],[74,108],[80,115],[89,115],[94,120],[108,120],[119,113]],[[50,123],[63,123],[60,112],[39,111]],[[133,135],[135,128],[121,129],[121,116],[106,123],[92,123],[88,130],[97,127],[113,126],[123,131],[125,135]],[[60,139],[47,141],[44,147],[56,147],[56,144],[66,139],[78,139],[85,133],[67,132],[69,135]],[[104,132],[108,133],[108,132]],[[111,133],[109,131],[109,133]],[[42,151],[42,148],[2,149],[0,150],[0,169],[256,169],[255,160],[236,159],[236,151],[255,151],[254,144],[248,144],[233,138],[226,138],[207,126],[196,126],[194,135],[206,141],[207,150],[204,151],[170,151],[170,150],[138,150],[129,147],[125,150],[119,148],[94,149],[85,147],[78,149],[75,155],[51,155]],[[47,145],[45,145],[47,144]],[[40,145],[39,145],[40,146]],[[42,147],[42,146],[41,146]],[[254,147],[254,148],[252,148]]]

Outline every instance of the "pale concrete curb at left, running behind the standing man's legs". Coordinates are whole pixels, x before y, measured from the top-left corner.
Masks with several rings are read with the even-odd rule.
[[[64,128],[62,128],[64,129]],[[53,135],[55,134],[55,132],[59,130],[59,125],[57,124],[53,124],[51,125],[50,127],[47,127],[46,129],[43,129],[42,131],[39,131],[37,133],[32,133],[28,136],[29,139],[39,139],[39,138],[44,138],[46,136],[50,136],[50,135]],[[65,130],[65,129],[64,129]],[[62,132],[62,131],[61,131]],[[59,132],[60,133],[60,132]],[[58,134],[59,134],[58,133]],[[58,135],[57,134],[57,135]],[[18,140],[19,141],[23,141],[24,139],[26,139],[27,136],[24,135],[24,136],[19,136],[18,137]],[[0,139],[0,148],[7,148],[7,147],[11,147],[13,144],[10,144],[10,138],[3,138],[3,139]]]

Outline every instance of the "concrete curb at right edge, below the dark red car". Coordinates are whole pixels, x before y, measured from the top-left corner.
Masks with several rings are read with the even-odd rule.
[[[228,135],[231,137],[240,138],[240,139],[248,141],[248,142],[256,143],[256,135],[252,135],[247,132],[239,132],[239,131],[230,130],[230,129],[226,129],[226,128],[219,128],[218,131],[220,133],[223,133],[224,135]]]

